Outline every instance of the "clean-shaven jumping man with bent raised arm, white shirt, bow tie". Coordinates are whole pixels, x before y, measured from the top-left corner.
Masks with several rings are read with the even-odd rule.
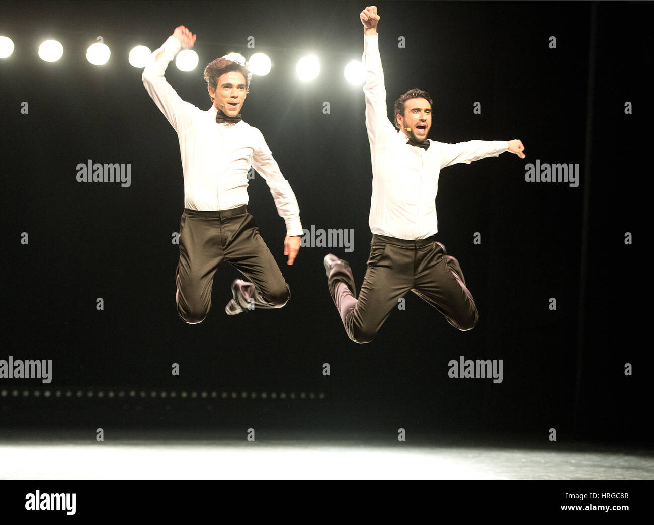
[[[248,281],[236,279],[230,315],[254,308],[281,308],[290,298],[275,258],[247,212],[250,165],[264,177],[277,212],[286,222],[284,255],[292,264],[303,234],[300,209],[261,132],[239,114],[250,86],[250,73],[237,62],[218,58],[204,78],[213,101],[204,111],[183,101],[164,73],[181,50],[194,46],[196,35],[180,25],[152,54],[143,84],[177,131],[184,171],[184,212],[179,230],[177,312],[189,324],[202,322],[211,309],[216,267],[227,261]],[[249,282],[252,281],[252,282]]]

